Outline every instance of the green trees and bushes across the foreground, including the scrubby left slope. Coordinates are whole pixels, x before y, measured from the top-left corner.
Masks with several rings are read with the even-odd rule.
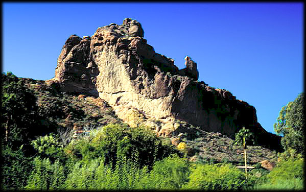
[[[77,100],[53,89],[37,91],[31,86],[40,85],[34,82],[29,88],[12,73],[2,75],[2,86],[2,189],[303,186],[303,155],[280,158],[270,172],[256,164],[246,179],[244,171],[228,161],[189,161],[183,142],[175,147],[146,127],[131,128],[104,104],[102,110],[91,100]],[[89,115],[93,111],[95,115]],[[87,132],[73,137],[72,126],[82,125]]]

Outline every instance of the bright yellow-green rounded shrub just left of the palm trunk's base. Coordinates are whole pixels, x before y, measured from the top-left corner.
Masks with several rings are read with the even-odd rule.
[[[246,187],[245,175],[229,165],[198,164],[183,189],[232,190]]]

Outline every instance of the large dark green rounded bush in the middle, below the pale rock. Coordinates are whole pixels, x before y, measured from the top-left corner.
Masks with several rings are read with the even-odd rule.
[[[65,149],[66,154],[83,161],[102,157],[104,163],[111,164],[114,169],[115,163],[122,158],[137,160],[140,167],[152,167],[154,161],[178,152],[144,127],[107,125],[89,135],[89,139],[71,142]]]

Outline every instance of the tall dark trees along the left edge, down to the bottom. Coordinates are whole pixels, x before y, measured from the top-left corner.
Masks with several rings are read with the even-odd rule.
[[[16,190],[26,184],[32,167],[36,98],[11,72],[2,74],[1,84],[1,187]]]

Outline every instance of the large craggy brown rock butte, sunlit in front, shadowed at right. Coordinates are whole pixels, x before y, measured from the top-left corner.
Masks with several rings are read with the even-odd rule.
[[[71,35],[58,58],[55,78],[62,92],[106,100],[130,126],[147,125],[158,135],[179,134],[176,120],[233,137],[242,126],[261,135],[256,110],[229,91],[199,82],[197,63],[185,57],[185,68],[160,55],[144,39],[133,19],[111,23],[82,39]],[[275,137],[279,139],[279,137]]]

